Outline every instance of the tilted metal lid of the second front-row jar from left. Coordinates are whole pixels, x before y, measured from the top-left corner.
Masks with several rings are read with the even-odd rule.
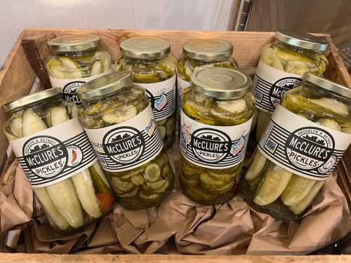
[[[113,93],[131,83],[133,83],[131,72],[124,70],[93,79],[77,88],[76,93],[81,100],[88,100]]]

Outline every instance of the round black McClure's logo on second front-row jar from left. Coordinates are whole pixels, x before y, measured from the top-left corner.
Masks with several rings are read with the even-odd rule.
[[[133,127],[118,127],[110,130],[102,139],[105,154],[117,163],[134,163],[145,151],[143,134]]]

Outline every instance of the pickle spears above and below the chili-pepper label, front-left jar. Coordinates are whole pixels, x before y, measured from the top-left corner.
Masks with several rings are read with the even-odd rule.
[[[9,120],[8,140],[39,133],[77,117],[73,102],[25,109]],[[105,213],[114,202],[109,183],[96,161],[93,166],[55,184],[34,188],[48,221],[58,231],[78,229]]]

